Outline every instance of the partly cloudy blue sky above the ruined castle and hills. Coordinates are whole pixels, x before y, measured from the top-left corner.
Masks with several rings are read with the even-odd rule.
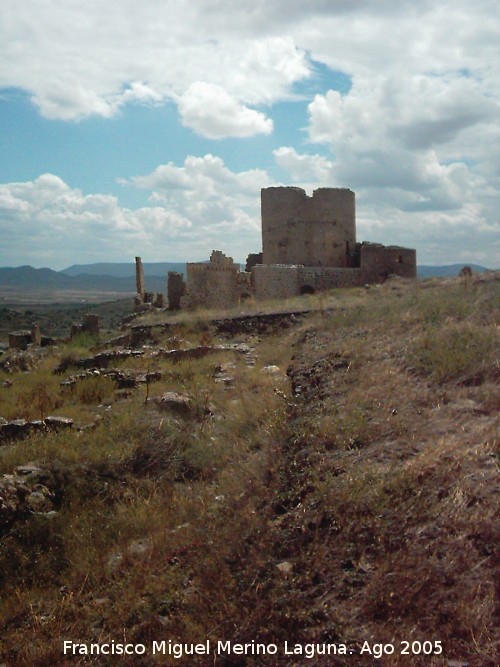
[[[500,267],[497,0],[2,0],[0,266],[245,260],[260,190]]]

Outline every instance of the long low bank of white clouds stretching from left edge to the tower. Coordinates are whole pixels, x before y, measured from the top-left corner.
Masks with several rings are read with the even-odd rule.
[[[0,185],[0,263],[18,257],[63,268],[134,254],[203,260],[214,248],[245,259],[260,249],[260,188],[270,184],[262,170],[237,173],[213,155],[189,156],[181,167],[160,165],[122,184],[146,190],[151,205],[124,208],[116,197],[85,195],[54,174]]]

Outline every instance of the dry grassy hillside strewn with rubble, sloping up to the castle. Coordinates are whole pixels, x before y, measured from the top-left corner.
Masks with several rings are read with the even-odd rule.
[[[1,660],[494,667],[499,315],[394,279],[0,357]]]

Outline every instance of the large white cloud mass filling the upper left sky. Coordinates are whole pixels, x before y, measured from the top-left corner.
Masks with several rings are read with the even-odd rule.
[[[22,8],[6,0],[0,87],[29,91],[51,119],[174,101],[183,123],[208,138],[268,134],[272,121],[251,106],[289,97],[310,63],[291,37],[240,38],[218,21],[222,10],[196,0],[26,0]]]

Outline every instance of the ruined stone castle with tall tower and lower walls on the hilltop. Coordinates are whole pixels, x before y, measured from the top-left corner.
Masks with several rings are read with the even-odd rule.
[[[390,275],[416,278],[415,250],[356,241],[352,190],[320,188],[309,197],[302,188],[264,188],[261,213],[262,253],[248,256],[245,271],[214,250],[209,262],[186,265],[185,286],[179,274],[169,274],[170,308],[227,308],[249,297],[281,299]]]

